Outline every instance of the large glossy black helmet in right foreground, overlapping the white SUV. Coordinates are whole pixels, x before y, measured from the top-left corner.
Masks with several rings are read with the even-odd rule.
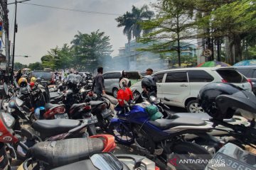
[[[199,91],[198,103],[208,115],[218,120],[232,118],[238,108],[256,113],[256,97],[250,91],[228,83],[206,84]]]

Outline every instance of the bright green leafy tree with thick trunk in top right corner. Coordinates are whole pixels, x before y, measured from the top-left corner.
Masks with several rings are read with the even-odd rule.
[[[242,40],[256,28],[256,3],[250,0],[230,1],[213,9],[199,23],[201,28],[210,27],[213,38],[227,37],[229,40],[230,63],[242,60]],[[209,24],[205,21],[210,21]],[[200,26],[200,25],[199,25]]]

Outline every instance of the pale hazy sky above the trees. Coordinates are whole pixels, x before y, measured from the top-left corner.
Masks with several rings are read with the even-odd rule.
[[[120,47],[124,47],[127,37],[122,33],[123,28],[117,28],[114,18],[126,11],[132,10],[132,5],[141,7],[156,0],[31,0],[29,4],[18,4],[15,55],[28,55],[28,58],[15,57],[15,62],[29,64],[40,62],[41,57],[48,53],[50,48],[70,44],[74,35],[91,33],[96,30],[104,31],[110,36],[112,56],[118,54]],[[13,1],[8,1],[11,3]],[[46,8],[31,4],[69,8],[80,11],[97,11],[114,13],[116,15],[65,11],[55,8]],[[14,35],[14,4],[9,8],[10,40]]]

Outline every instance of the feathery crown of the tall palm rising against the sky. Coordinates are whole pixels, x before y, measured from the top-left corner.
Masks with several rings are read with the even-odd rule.
[[[154,16],[153,11],[149,11],[148,6],[144,5],[142,8],[132,6],[132,12],[126,12],[124,15],[119,16],[115,20],[118,22],[117,27],[123,27],[124,35],[127,35],[128,42],[132,40],[132,37],[138,39],[142,33],[142,27],[139,23],[149,20]],[[143,30],[144,33],[148,33],[149,30]]]

